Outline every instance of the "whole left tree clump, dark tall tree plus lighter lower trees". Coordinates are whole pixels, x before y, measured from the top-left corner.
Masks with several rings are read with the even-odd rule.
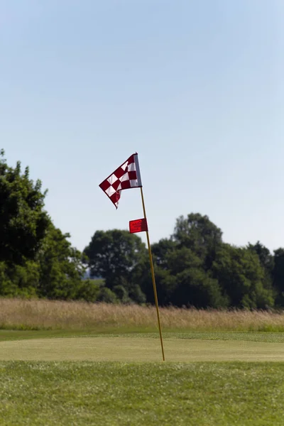
[[[94,299],[98,290],[82,284],[82,254],[44,210],[45,193],[0,152],[0,295]]]

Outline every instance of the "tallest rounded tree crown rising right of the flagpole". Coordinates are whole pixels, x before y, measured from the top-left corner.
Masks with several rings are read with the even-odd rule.
[[[222,246],[222,231],[207,216],[191,213],[187,218],[180,216],[175,224],[173,240],[178,247],[191,249],[203,262],[208,271],[216,258],[217,250]]]

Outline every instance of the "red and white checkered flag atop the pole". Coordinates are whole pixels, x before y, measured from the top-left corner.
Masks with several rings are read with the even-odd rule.
[[[138,154],[131,155],[131,157],[129,157],[125,163],[121,164],[114,173],[111,173],[109,178],[104,180],[99,187],[107,194],[117,209],[122,190],[142,187]]]

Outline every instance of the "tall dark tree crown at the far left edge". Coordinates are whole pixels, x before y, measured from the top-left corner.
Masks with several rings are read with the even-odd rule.
[[[0,261],[23,264],[35,258],[50,224],[43,210],[46,192],[21,163],[7,165],[0,151]]]

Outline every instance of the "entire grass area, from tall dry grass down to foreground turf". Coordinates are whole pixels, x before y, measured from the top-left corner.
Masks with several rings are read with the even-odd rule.
[[[284,425],[282,313],[161,317],[165,362],[152,308],[0,300],[0,425]]]

